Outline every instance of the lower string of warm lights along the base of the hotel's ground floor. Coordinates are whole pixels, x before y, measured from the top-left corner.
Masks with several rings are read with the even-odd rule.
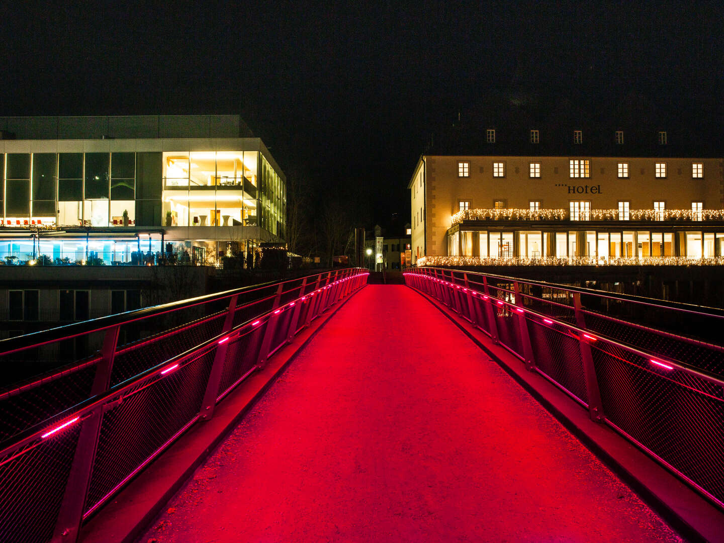
[[[604,258],[574,256],[557,258],[484,258],[480,256],[421,256],[416,266],[721,266],[724,256],[689,258],[686,256],[644,256],[642,258]]]

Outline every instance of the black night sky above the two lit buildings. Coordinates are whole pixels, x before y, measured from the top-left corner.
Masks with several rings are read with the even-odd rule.
[[[429,134],[491,96],[721,119],[720,2],[334,4],[5,2],[0,114],[240,113],[376,222],[409,214]]]

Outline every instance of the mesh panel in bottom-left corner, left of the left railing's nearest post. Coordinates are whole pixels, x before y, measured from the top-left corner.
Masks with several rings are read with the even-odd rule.
[[[0,460],[0,541],[51,539],[79,433],[77,424]]]

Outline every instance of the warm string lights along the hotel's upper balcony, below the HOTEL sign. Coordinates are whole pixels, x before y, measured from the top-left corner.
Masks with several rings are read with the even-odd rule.
[[[585,216],[581,211],[581,215]],[[591,209],[589,219],[596,221],[618,221],[618,209]],[[631,209],[629,220],[633,221],[724,221],[724,209]],[[452,216],[450,226],[463,221],[567,221],[570,214],[565,209],[466,209]],[[578,221],[576,221],[578,222]],[[623,221],[625,222],[625,221]]]

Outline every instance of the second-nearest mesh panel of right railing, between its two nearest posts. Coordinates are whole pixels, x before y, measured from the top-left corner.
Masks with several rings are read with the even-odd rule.
[[[581,346],[570,334],[528,321],[536,367],[553,381],[588,403]]]

